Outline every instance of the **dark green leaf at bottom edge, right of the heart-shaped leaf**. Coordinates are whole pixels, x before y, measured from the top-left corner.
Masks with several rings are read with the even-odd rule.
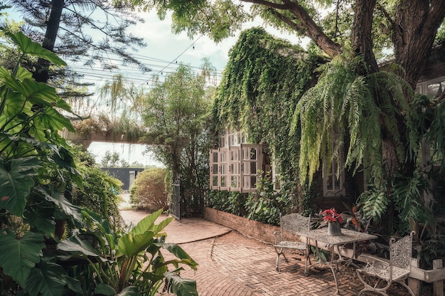
[[[31,270],[31,274],[26,281],[26,290],[30,296],[58,296],[64,295],[65,282],[62,275],[65,273],[62,266],[42,260]]]

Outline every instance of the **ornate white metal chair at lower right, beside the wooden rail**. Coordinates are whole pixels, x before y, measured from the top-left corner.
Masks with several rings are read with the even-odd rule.
[[[387,289],[393,282],[399,282],[406,287],[409,294],[412,296],[414,292],[408,287],[405,280],[411,273],[411,257],[412,257],[412,237],[414,231],[409,236],[405,236],[400,240],[395,238],[390,239],[390,260],[382,260],[374,256],[366,256],[368,263],[364,268],[357,270],[358,278],[365,285],[363,290],[358,292],[361,295],[363,292],[377,292],[381,295],[387,296]],[[363,277],[366,275],[366,277]],[[371,281],[375,282],[372,285]]]

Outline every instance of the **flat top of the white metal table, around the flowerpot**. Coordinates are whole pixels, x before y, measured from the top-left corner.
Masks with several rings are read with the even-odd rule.
[[[377,236],[369,233],[351,231],[345,228],[341,228],[341,233],[341,236],[328,236],[326,228],[318,228],[310,231],[301,231],[298,234],[328,245],[344,245],[345,243],[355,243],[361,240],[373,240],[377,238]]]

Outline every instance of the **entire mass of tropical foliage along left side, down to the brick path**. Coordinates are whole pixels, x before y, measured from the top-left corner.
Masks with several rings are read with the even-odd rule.
[[[80,157],[80,162],[80,153],[58,133],[63,128],[74,130],[58,111],[70,112],[70,107],[54,88],[36,82],[20,64],[27,55],[60,66],[65,65],[63,60],[23,33],[6,36],[14,41],[21,57],[11,72],[0,67],[0,293],[154,295],[166,279],[168,291],[197,295],[195,282],[178,276],[179,264],[195,268],[196,263],[178,246],[164,243],[163,227],[171,220],[154,224],[161,211],[122,236],[117,234],[122,223],[118,216],[111,225],[104,219],[116,214],[113,197],[119,182],[98,168],[90,170],[90,157]],[[87,197],[93,199],[86,201]],[[100,214],[73,203],[87,203]],[[70,237],[60,240],[63,233],[57,233],[56,226],[64,221],[70,226]],[[77,233],[95,233],[97,245],[94,241],[88,245]],[[163,260],[161,248],[179,260]],[[142,268],[141,258],[148,258],[147,254],[151,254],[151,264]],[[103,265],[92,263],[85,270],[75,266],[82,273],[75,277],[66,268],[77,265],[70,261],[73,258],[89,262],[95,258]],[[168,270],[169,265],[174,269]],[[85,285],[85,280],[90,282]]]

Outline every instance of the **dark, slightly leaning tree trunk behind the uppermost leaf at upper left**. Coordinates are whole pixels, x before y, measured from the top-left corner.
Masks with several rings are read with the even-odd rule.
[[[47,21],[45,38],[43,39],[42,47],[48,49],[48,51],[54,51],[55,39],[59,31],[60,18],[62,16],[64,0],[51,1],[51,13],[50,18]],[[49,65],[48,60],[38,58],[36,65],[36,72],[33,77],[36,81],[46,83],[49,79]]]

